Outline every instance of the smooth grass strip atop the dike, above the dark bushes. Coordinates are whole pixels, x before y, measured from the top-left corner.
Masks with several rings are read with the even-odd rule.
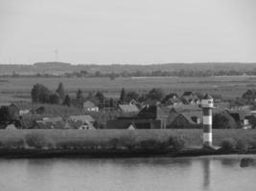
[[[24,142],[28,135],[43,137],[54,145],[75,144],[84,141],[85,144],[105,145],[114,138],[128,139],[138,142],[146,139],[165,141],[170,137],[179,137],[186,140],[187,146],[200,146],[202,142],[201,130],[0,130],[1,145],[12,142]],[[213,143],[220,145],[224,138],[246,139],[256,141],[256,130],[214,130]]]

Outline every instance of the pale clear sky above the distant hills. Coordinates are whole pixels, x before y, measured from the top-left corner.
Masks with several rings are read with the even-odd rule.
[[[256,62],[255,0],[0,0],[0,64]]]

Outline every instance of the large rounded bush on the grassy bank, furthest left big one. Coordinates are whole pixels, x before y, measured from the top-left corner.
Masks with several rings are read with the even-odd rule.
[[[25,136],[25,141],[28,146],[34,147],[36,149],[55,147],[55,144],[52,138],[49,138],[40,134],[27,134]]]

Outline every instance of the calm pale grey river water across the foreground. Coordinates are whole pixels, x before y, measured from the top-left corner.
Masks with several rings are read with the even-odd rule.
[[[0,159],[0,190],[256,190],[256,166],[241,168],[240,159]]]

